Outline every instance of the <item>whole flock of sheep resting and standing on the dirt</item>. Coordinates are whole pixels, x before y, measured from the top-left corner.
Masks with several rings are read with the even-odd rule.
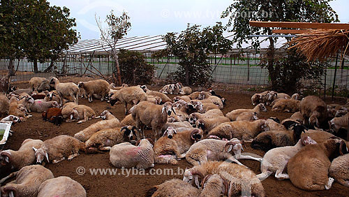
[[[20,149],[0,152],[1,167],[15,180],[0,187],[1,196],[86,196],[78,182],[56,177],[45,163],[69,161],[80,154],[110,152],[116,168],[151,168],[154,163],[193,165],[183,180],[173,179],[149,189],[147,196],[266,196],[262,181],[275,174],[304,190],[329,189],[334,181],[349,187],[349,154],[346,140],[334,133],[348,128],[346,105],[326,105],[316,96],[274,91],[254,94],[252,109],[221,111],[226,100],[213,90],[192,92],[181,83],[165,85],[159,92],[145,85],[114,87],[105,80],[59,82],[57,78],[31,78],[28,89],[0,95],[1,122],[30,121],[29,112],[40,112],[54,124],[102,120],[75,133],[49,140],[24,140]],[[166,94],[179,94],[170,99]],[[79,97],[123,103],[126,117],[119,121],[105,110],[101,115]],[[73,101],[73,102],[69,102]],[[133,105],[128,109],[128,105]],[[282,122],[276,117],[258,119],[260,112],[295,112]],[[152,139],[145,129],[151,129]],[[243,145],[266,152],[264,157],[242,154]],[[260,161],[259,175],[239,159]]]

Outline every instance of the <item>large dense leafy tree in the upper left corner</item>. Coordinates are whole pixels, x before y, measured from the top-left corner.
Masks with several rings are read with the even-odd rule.
[[[34,61],[56,60],[69,45],[77,43],[75,19],[64,7],[46,0],[3,0],[0,4],[1,57],[27,57]]]

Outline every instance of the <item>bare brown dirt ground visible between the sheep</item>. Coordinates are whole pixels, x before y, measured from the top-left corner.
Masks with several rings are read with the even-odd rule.
[[[75,78],[73,81],[77,82],[79,80],[90,80],[90,78]],[[229,94],[227,92],[218,92],[218,94],[228,99],[228,104],[223,109],[224,113],[237,108],[253,107],[250,99],[251,94]],[[98,113],[101,113],[103,110],[110,110],[120,120],[125,117],[124,105],[119,104],[111,107],[106,102],[94,100],[93,103],[88,103],[86,99],[80,99],[79,103],[89,105]],[[83,124],[64,122],[61,126],[55,126],[50,122],[43,122],[39,113],[33,112],[32,115],[33,117],[27,122],[12,126],[13,136],[8,139],[5,149],[18,149],[22,141],[27,138],[47,140],[61,134],[73,136],[78,131],[99,120],[93,119]],[[268,112],[262,112],[260,118],[279,117],[279,119],[285,119],[290,117],[290,115],[291,113],[271,112],[268,107]],[[148,131],[146,135],[149,136],[150,132]],[[245,152],[252,152],[260,156],[265,154],[265,152],[260,150],[252,149],[249,144],[246,145]],[[260,173],[260,163],[258,161],[241,160],[241,162],[251,168],[256,174]],[[132,174],[132,171],[130,173],[126,170],[117,169],[114,175],[109,171],[106,171],[106,175],[101,175],[100,173],[91,175],[92,169],[116,169],[109,163],[109,153],[106,152],[105,154],[82,153],[72,161],[47,164],[45,167],[52,170],[55,177],[64,175],[80,182],[86,189],[87,196],[144,196],[146,191],[156,184],[161,184],[165,180],[172,178],[181,179],[182,175],[180,173],[183,173],[186,168],[191,168],[191,164],[184,159],[179,161],[177,166],[156,164],[154,168],[134,171],[134,174]],[[165,169],[173,169],[174,175],[161,175],[161,171],[165,173]],[[128,173],[130,174],[128,175]],[[159,173],[159,175],[153,175],[154,173]],[[168,171],[167,173],[170,172]],[[267,192],[267,196],[349,196],[349,188],[343,187],[336,182],[329,190],[312,192],[297,189],[290,180],[279,181],[274,176],[268,177],[262,184]]]

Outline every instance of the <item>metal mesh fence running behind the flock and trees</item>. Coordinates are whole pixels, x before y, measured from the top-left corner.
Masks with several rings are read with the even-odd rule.
[[[163,57],[162,59],[152,59],[152,52],[143,52],[149,64],[156,66],[156,78],[166,80],[168,75],[177,71],[179,66],[176,57]],[[267,87],[270,83],[268,71],[258,66],[260,64],[259,54],[231,54],[225,57],[210,56],[208,61],[211,64],[211,77],[214,82],[232,85],[236,87],[233,90],[241,91],[246,89],[260,90]],[[8,73],[8,59],[0,60],[0,74]],[[326,74],[322,76],[320,84],[313,84],[311,81],[303,81],[307,86],[311,85],[313,89],[323,91],[325,88],[335,88],[337,95],[346,96],[348,94],[349,83],[349,62],[344,61],[343,65],[337,62],[337,69],[334,67],[336,61],[329,61],[331,65],[326,70]],[[50,60],[41,64],[38,62],[39,73],[34,73],[33,63],[27,59],[13,61],[15,67],[15,76],[11,77],[11,82],[26,82],[34,76],[49,78],[52,75],[110,75],[115,70],[114,62],[108,55],[94,53],[75,53],[66,54],[54,62],[52,70],[44,73],[50,66]]]

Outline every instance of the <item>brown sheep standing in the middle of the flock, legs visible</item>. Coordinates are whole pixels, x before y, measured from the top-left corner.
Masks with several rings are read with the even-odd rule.
[[[168,115],[171,115],[172,104],[165,103],[156,105],[148,101],[142,101],[135,105],[132,111],[132,117],[135,119],[136,127],[140,130],[142,138],[144,138],[144,126],[151,127],[154,133],[155,141],[161,135],[161,128],[168,122]]]

